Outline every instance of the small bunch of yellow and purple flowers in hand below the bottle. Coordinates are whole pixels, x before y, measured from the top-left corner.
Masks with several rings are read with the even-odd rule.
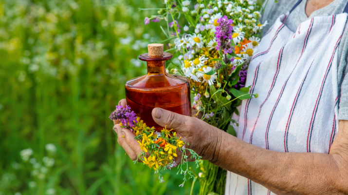
[[[199,166],[201,156],[198,156],[193,150],[185,147],[189,143],[181,140],[176,132],[172,132],[166,127],[161,132],[156,132],[154,127],[147,127],[146,123],[141,120],[140,117],[136,117],[134,111],[130,111],[130,107],[126,105],[126,108],[122,106],[116,106],[116,110],[110,114],[111,120],[120,120],[119,125],[122,128],[127,128],[135,134],[134,139],[138,141],[142,152],[138,155],[145,165],[150,169],[155,170],[155,174],[158,174],[158,179],[161,183],[165,182],[161,174],[162,170],[171,169],[178,166],[178,174],[184,175],[183,183],[180,185],[183,187],[187,178],[194,178],[192,171],[188,170],[187,165],[188,158],[195,159],[197,167]],[[177,149],[182,153],[180,164],[175,162],[175,158],[178,157]],[[189,157],[189,156],[190,157]],[[134,160],[134,164],[138,163],[138,159]]]

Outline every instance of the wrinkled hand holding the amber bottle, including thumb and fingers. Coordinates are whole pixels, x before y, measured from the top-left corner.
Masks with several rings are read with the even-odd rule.
[[[126,107],[126,99],[121,99],[118,104]],[[182,137],[184,141],[189,143],[189,146],[186,147],[194,150],[198,155],[202,156],[202,159],[211,161],[217,159],[219,137],[221,137],[222,133],[220,129],[198,118],[183,116],[162,108],[154,108],[151,114],[157,124],[162,127],[166,125],[168,129],[176,131],[179,137]],[[135,135],[129,129],[122,129],[118,120],[113,122],[115,124],[113,129],[118,136],[118,143],[125,149],[132,160],[136,160],[142,150],[139,147],[139,143],[134,139]],[[180,153],[178,155],[177,163],[181,159]]]

